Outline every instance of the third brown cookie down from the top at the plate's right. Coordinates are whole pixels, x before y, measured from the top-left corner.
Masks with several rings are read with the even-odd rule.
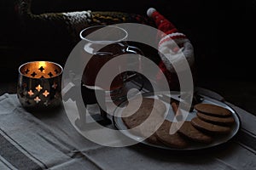
[[[216,124],[212,124],[210,122],[202,121],[199,117],[195,116],[191,123],[194,127],[206,133],[230,133],[230,127],[224,127]]]

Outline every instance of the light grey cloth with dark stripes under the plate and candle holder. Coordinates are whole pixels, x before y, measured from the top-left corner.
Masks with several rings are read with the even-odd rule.
[[[207,90],[203,93],[216,97]],[[95,144],[74,129],[63,109],[32,114],[20,106],[16,94],[4,94],[0,169],[255,169],[256,116],[229,105],[241,117],[235,139],[212,150],[175,152],[143,144],[122,148]]]

